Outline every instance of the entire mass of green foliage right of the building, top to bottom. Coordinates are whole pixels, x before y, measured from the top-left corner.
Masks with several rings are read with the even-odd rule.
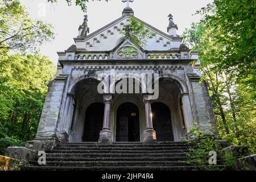
[[[184,42],[200,51],[222,139],[256,152],[255,2],[218,0],[184,32]],[[253,26],[252,26],[253,23]],[[245,70],[246,69],[246,70]]]

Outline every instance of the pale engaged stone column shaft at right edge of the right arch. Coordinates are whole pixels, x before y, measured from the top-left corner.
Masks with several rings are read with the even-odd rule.
[[[181,100],[182,100],[184,122],[186,125],[187,133],[189,133],[189,129],[193,124],[193,116],[191,112],[191,104],[190,104],[188,93],[182,94]]]

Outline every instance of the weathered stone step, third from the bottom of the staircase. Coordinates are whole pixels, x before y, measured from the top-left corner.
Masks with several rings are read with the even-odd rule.
[[[77,156],[63,156],[63,157],[59,157],[59,156],[47,156],[47,161],[171,161],[171,160],[188,160],[187,156],[173,156],[173,157],[134,157],[131,156],[130,158],[127,157],[122,157],[122,158],[116,158],[116,157],[101,157],[101,156],[97,156],[94,158],[84,158],[84,157],[77,157]]]

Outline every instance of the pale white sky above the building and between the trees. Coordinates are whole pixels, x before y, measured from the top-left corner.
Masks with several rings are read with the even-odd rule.
[[[42,46],[41,53],[55,64],[58,59],[56,52],[64,51],[74,44],[73,38],[77,37],[79,25],[83,22],[85,14],[80,7],[68,6],[65,0],[58,1],[51,4],[46,3],[46,0],[20,0],[22,5],[27,7],[32,19],[53,24],[56,38]],[[182,35],[185,28],[189,28],[192,22],[198,22],[200,19],[199,15],[192,14],[212,2],[213,0],[134,0],[130,7],[134,11],[134,16],[166,33],[169,23],[167,16],[172,14],[174,22],[179,27],[178,34]],[[125,7],[126,3],[122,3],[122,0],[90,0],[86,13],[90,34],[121,17]]]

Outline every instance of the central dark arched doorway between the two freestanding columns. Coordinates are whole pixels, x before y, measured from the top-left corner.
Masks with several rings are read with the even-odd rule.
[[[125,103],[117,110],[117,142],[139,142],[139,109],[131,103]]]

